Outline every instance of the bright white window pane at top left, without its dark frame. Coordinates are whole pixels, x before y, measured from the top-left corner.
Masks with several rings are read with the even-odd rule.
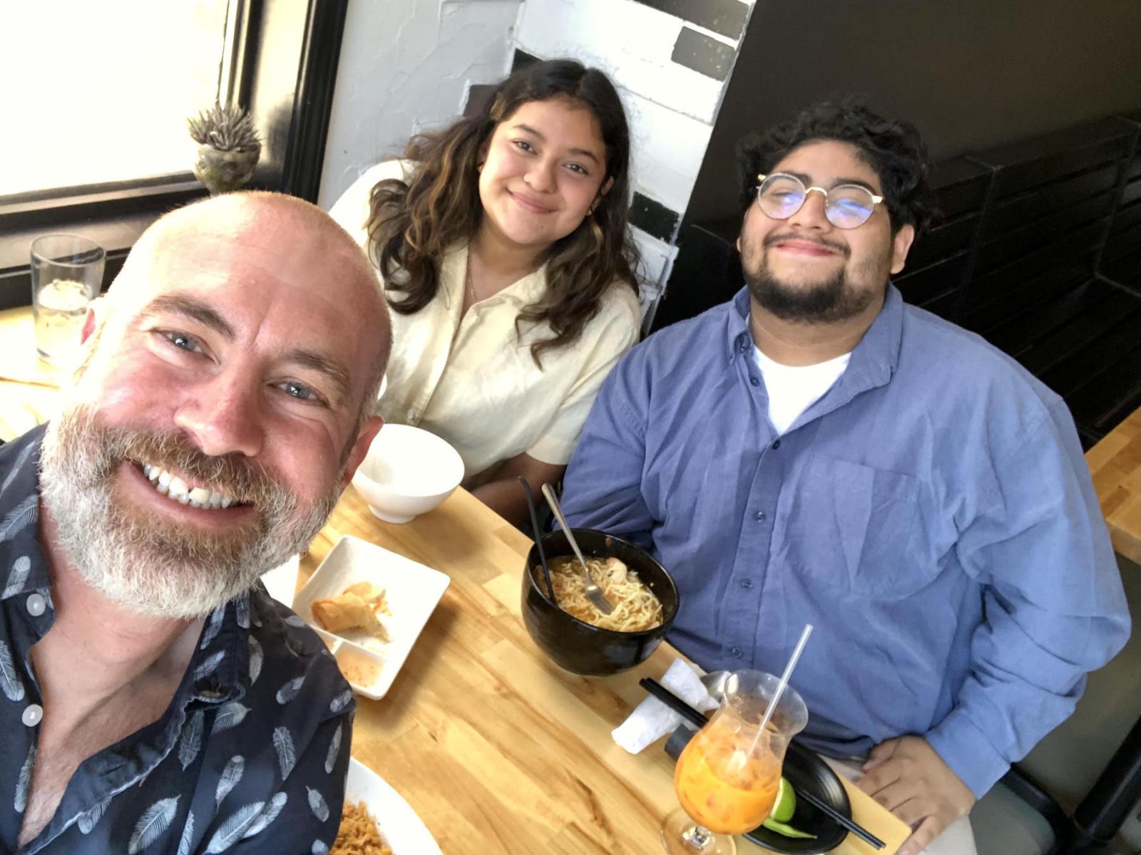
[[[189,171],[227,0],[35,0],[3,13],[0,197]],[[24,36],[14,38],[16,33]]]

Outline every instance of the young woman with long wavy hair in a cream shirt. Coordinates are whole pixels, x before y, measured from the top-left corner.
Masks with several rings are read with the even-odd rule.
[[[630,132],[607,76],[572,60],[501,82],[478,115],[414,137],[331,213],[393,309],[380,401],[463,457],[512,521],[516,481],[558,481],[598,388],[638,340]]]

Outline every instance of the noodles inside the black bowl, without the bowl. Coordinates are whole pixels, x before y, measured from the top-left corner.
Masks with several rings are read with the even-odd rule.
[[[555,598],[563,611],[584,624],[620,633],[640,633],[662,625],[662,603],[621,559],[589,557],[590,575],[614,606],[609,614],[600,612],[586,598],[586,583],[582,564],[576,557],[558,557],[548,562]],[[547,592],[547,581],[539,577],[539,585]]]

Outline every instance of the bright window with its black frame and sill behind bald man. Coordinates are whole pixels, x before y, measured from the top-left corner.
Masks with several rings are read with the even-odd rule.
[[[316,199],[347,6],[0,2],[0,309],[30,302],[37,236],[98,242],[106,284],[148,225],[204,196],[186,119],[216,97],[261,135],[250,186]],[[41,106],[56,99],[79,105],[67,125]]]

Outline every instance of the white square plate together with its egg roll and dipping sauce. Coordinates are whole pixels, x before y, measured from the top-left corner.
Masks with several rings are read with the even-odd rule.
[[[293,598],[293,611],[329,645],[345,678],[383,698],[451,579],[346,535]]]

